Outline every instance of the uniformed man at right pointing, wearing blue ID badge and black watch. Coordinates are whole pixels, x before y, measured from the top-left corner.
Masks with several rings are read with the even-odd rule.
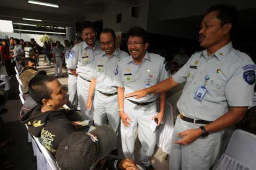
[[[231,30],[237,10],[230,5],[208,9],[199,31],[200,46],[171,78],[126,97],[167,91],[186,82],[177,103],[169,168],[206,170],[213,166],[224,128],[242,120],[252,105],[256,66],[245,53],[233,49]],[[232,29],[231,29],[232,28]]]

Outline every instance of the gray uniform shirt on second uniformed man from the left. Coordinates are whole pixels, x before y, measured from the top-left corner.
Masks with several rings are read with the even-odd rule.
[[[116,67],[121,59],[128,57],[128,53],[116,49],[111,57],[107,57],[105,52],[96,55],[93,62],[92,78],[97,80],[96,90],[112,94],[117,91],[113,85]]]

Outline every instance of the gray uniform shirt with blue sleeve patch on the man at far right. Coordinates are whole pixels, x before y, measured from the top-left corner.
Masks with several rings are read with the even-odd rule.
[[[255,64],[233,49],[231,42],[210,56],[207,50],[196,52],[172,78],[186,82],[177,106],[187,117],[214,121],[228,112],[229,106],[252,105]],[[194,94],[204,84],[207,92],[199,102]]]

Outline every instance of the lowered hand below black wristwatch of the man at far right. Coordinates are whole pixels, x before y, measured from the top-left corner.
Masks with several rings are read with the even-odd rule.
[[[187,145],[189,143],[194,142],[201,135],[202,135],[202,130],[200,128],[188,129],[177,134],[177,136],[184,136],[184,137],[182,137],[179,141],[175,141],[174,143],[180,144],[180,145]]]

